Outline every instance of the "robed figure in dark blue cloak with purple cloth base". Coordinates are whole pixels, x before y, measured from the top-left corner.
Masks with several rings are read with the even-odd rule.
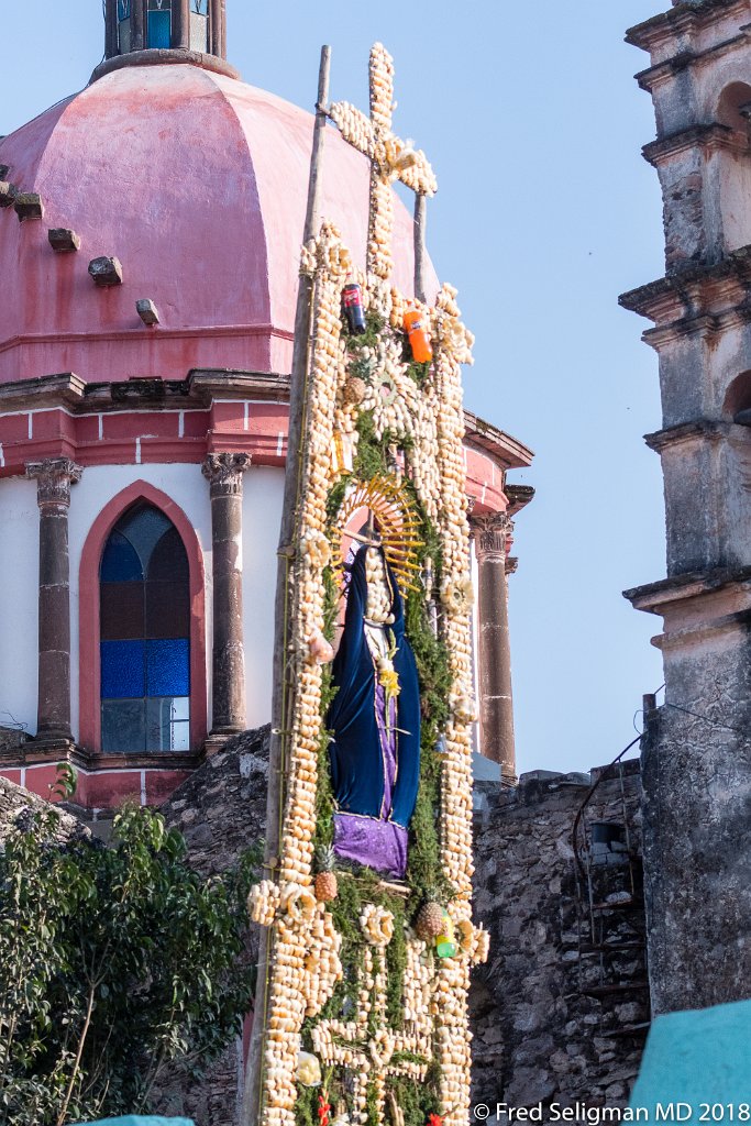
[[[404,607],[382,547],[351,566],[328,715],[337,856],[403,878],[420,778],[420,694]]]

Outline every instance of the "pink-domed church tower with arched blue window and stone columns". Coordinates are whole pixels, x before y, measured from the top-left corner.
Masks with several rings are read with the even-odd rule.
[[[48,797],[70,762],[92,816],[160,804],[270,717],[313,136],[227,63],[225,0],[104,15],[89,84],[0,137],[0,775]],[[360,268],[370,164],[328,133],[321,211]],[[414,222],[387,190],[409,297]],[[435,300],[429,260],[422,282]],[[504,565],[530,491],[507,473],[533,455],[464,425],[475,528],[502,531],[476,555],[480,766],[508,781]]]

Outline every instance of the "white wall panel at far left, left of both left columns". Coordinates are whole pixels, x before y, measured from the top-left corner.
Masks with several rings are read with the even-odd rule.
[[[36,481],[0,481],[0,713],[36,734],[39,510]],[[0,714],[0,725],[9,724]]]

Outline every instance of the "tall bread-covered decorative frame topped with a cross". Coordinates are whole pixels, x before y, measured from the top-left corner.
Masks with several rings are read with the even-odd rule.
[[[472,363],[472,336],[452,286],[445,285],[428,306],[391,285],[392,180],[423,195],[437,189],[424,154],[392,134],[392,109],[393,62],[376,44],[370,116],[347,102],[330,107],[345,138],[370,160],[366,272],[352,266],[329,222],[302,251],[301,272],[314,282],[314,324],[292,564],[287,786],[277,879],[259,885],[250,903],[253,919],[270,929],[271,949],[259,1126],[295,1126],[302,1088],[320,1084],[322,1076],[321,1126],[332,1103],[336,1126],[381,1126],[387,1119],[399,1126],[399,1084],[423,1090],[436,1071],[436,1112],[432,1119],[426,1114],[426,1120],[467,1126],[470,1118],[470,967],[488,956],[488,936],[471,920],[473,596],[461,365]],[[365,334],[348,330],[342,316],[342,291],[354,284],[361,288]],[[417,374],[404,331],[408,313],[419,321],[430,352]],[[358,468],[366,422],[373,440],[387,447],[375,474]],[[345,930],[334,919],[345,876],[339,868],[333,876],[328,854],[325,863],[321,851],[315,856],[316,811],[328,781],[320,776],[327,767],[321,748],[327,747],[324,678],[334,641],[327,599],[332,587],[346,588],[347,529],[361,509],[378,528],[403,595],[421,600],[447,658],[436,864],[450,892],[437,902],[428,888],[410,884],[408,869],[403,890],[382,886],[402,895],[402,904],[411,896],[418,903],[414,918],[409,920],[403,906],[394,913],[369,893],[373,901],[363,901]],[[428,531],[438,545],[430,565],[420,554]],[[433,586],[440,592],[438,608]],[[392,671],[384,658],[381,685],[393,695],[399,683]]]

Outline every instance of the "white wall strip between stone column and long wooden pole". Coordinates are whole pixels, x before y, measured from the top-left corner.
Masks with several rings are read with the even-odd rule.
[[[284,470],[259,466],[245,473],[242,610],[249,727],[258,727],[271,718],[276,549],[283,499]]]

